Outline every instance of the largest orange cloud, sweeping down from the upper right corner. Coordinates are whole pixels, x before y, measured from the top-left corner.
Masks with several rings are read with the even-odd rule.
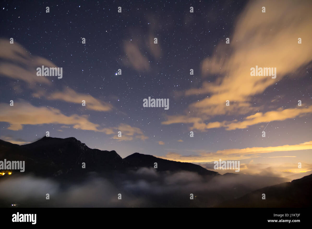
[[[266,13],[261,12],[262,6],[266,6]],[[312,43],[309,42],[312,37],[309,29],[312,26],[311,7],[310,1],[250,1],[239,15],[233,35],[229,36],[230,44],[226,44],[224,38],[212,55],[202,60],[202,76],[217,75],[217,79],[203,82],[201,88],[185,90],[185,96],[204,98],[190,104],[185,111],[187,115],[168,117],[163,124],[193,123],[192,128],[204,131],[226,125],[222,122],[206,125],[204,121],[209,116],[259,111],[261,107],[253,107],[250,102],[255,95],[312,60]],[[299,37],[307,42],[298,44]],[[276,68],[276,79],[251,76],[250,68],[256,65]],[[228,107],[225,106],[226,100],[230,101]],[[255,118],[251,123],[257,120]],[[247,124],[247,121],[233,123],[227,128],[230,130]]]

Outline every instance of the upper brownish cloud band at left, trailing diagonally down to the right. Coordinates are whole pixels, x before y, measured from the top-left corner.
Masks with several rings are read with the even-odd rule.
[[[82,103],[86,101],[86,109],[95,111],[110,111],[112,105],[102,102],[89,94],[77,93],[71,88],[65,88],[63,92],[54,92],[47,95],[45,90],[36,90],[35,83],[46,84],[51,86],[52,82],[49,77],[37,76],[37,67],[44,65],[45,67],[57,67],[50,60],[39,56],[32,56],[20,44],[14,41],[9,44],[9,40],[0,39],[0,77],[7,77],[27,83],[27,85],[35,90],[33,96],[40,98],[44,96],[48,100],[62,100],[69,103]],[[57,79],[57,78],[56,78]],[[19,91],[21,86],[14,85]]]

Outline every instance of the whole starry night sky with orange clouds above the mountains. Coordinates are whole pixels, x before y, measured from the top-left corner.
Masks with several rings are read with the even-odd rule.
[[[49,131],[123,158],[207,169],[240,160],[243,173],[274,176],[312,170],[310,1],[0,7],[0,139],[23,145]],[[42,65],[61,67],[62,79],[37,76]],[[276,79],[251,76],[256,65],[276,67]],[[169,109],[143,107],[148,97],[168,98]]]

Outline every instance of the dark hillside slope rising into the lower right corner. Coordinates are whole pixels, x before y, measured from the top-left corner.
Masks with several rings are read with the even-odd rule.
[[[311,207],[312,174],[291,182],[258,189],[241,198],[223,202],[216,207],[239,208],[302,208]],[[266,199],[262,199],[262,194]]]

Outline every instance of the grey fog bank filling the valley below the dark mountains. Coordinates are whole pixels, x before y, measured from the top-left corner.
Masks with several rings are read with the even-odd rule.
[[[26,174],[2,179],[0,206],[17,203],[19,207],[212,207],[284,181],[243,174],[212,178],[189,171],[161,173],[154,168],[115,171],[108,178],[94,172],[79,177],[79,182],[67,179],[65,186],[57,177],[42,179]],[[53,198],[46,201],[46,193]],[[118,200],[118,193],[122,194],[122,201]],[[190,203],[189,193],[194,193],[195,205]]]

